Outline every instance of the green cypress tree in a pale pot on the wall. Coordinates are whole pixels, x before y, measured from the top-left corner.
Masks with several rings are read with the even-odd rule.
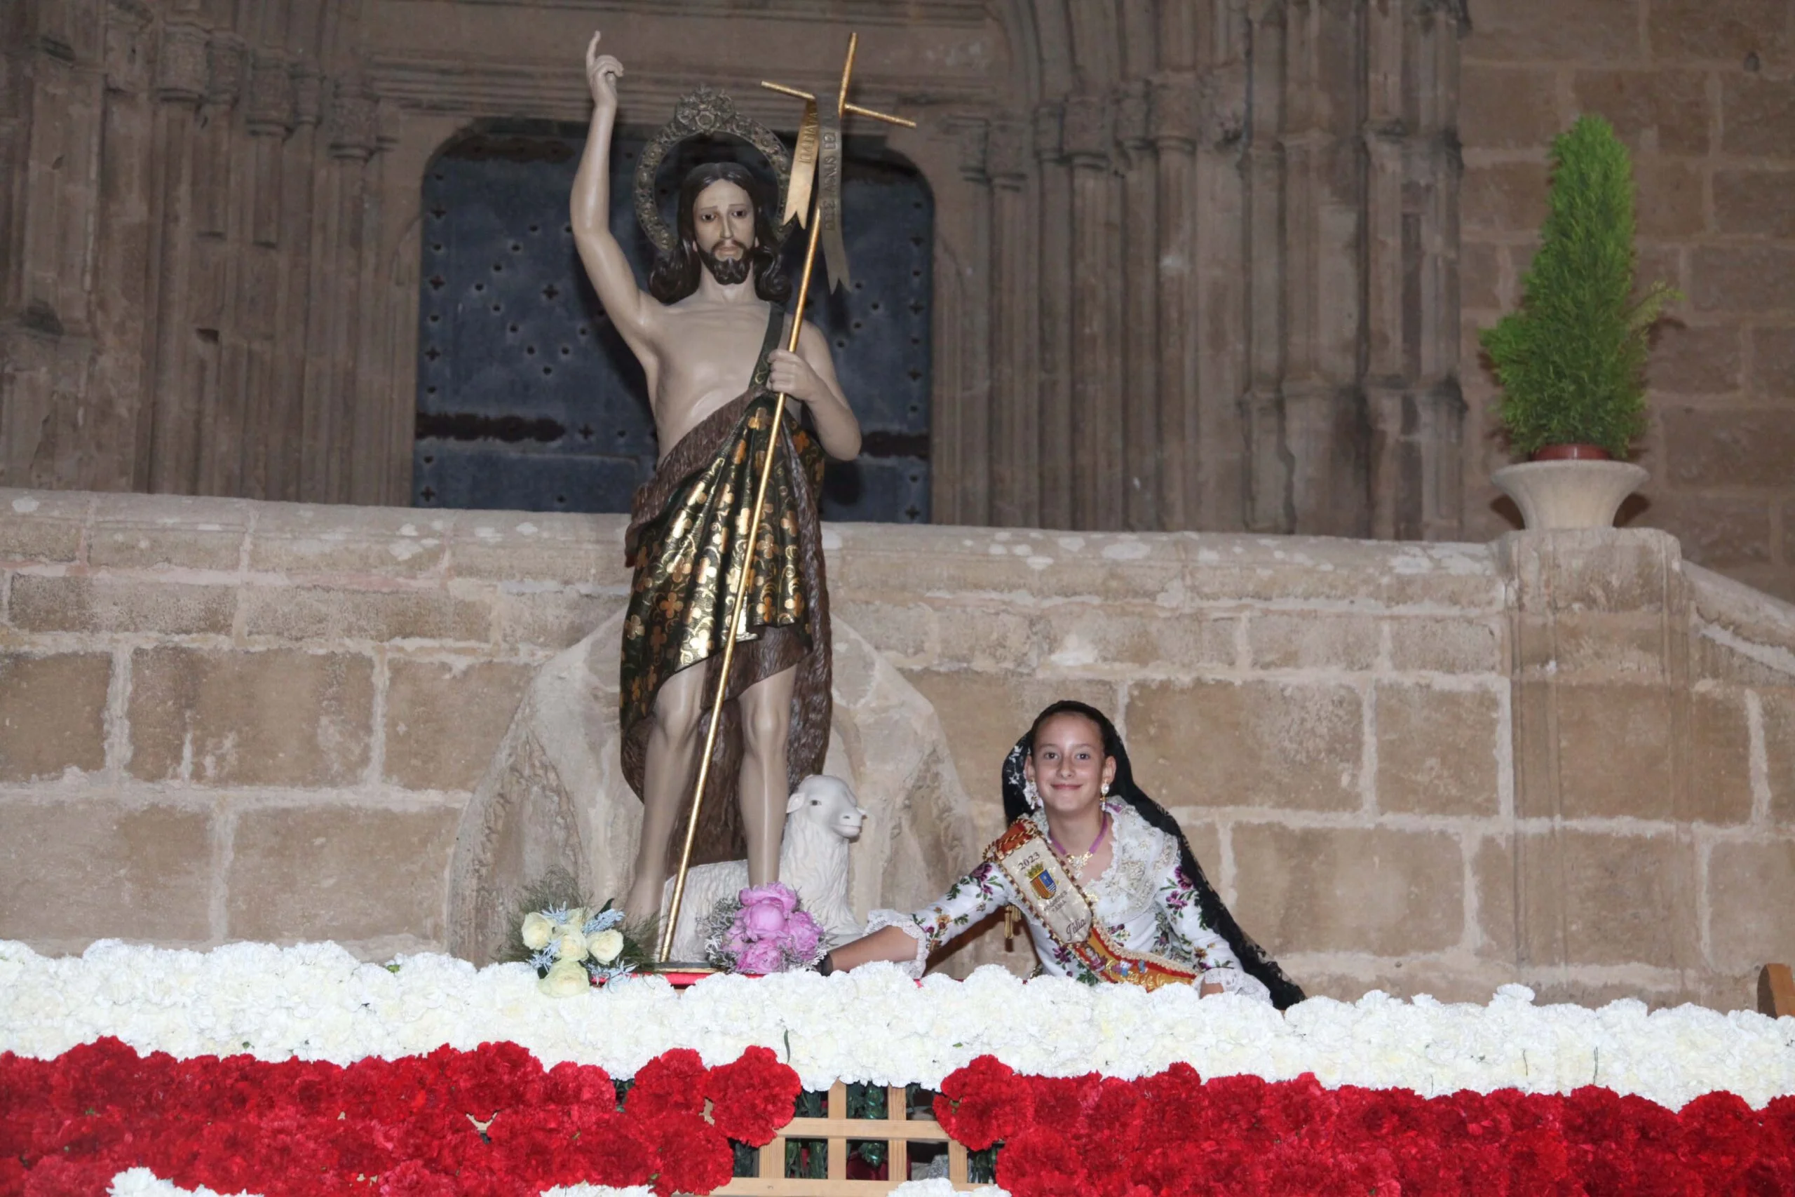
[[[1528,528],[1608,528],[1646,472],[1626,463],[1646,424],[1651,325],[1680,298],[1633,289],[1633,167],[1614,127],[1580,117],[1553,142],[1549,214],[1520,307],[1481,334],[1502,384],[1510,449],[1492,481]]]

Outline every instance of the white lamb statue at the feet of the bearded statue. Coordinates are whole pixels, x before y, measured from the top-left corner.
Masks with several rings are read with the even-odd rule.
[[[840,777],[811,773],[786,799],[784,840],[779,845],[779,879],[797,890],[810,917],[822,924],[831,948],[860,937],[860,921],[847,904],[847,843],[860,836],[867,813]],[[673,960],[704,960],[698,919],[725,897],[749,885],[749,861],[725,860],[696,865],[686,874]],[[661,894],[661,917],[673,901],[673,878]]]

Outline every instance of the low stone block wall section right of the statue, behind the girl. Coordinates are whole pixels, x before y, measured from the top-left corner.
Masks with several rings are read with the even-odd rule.
[[[838,535],[984,829],[1032,714],[1093,702],[1312,992],[1734,1009],[1795,955],[1795,608],[1664,533]]]

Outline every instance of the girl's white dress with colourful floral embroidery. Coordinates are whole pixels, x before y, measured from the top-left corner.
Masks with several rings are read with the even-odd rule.
[[[1265,985],[1242,971],[1228,940],[1203,922],[1197,894],[1178,863],[1178,840],[1136,815],[1125,802],[1108,800],[1104,809],[1111,818],[1109,867],[1095,879],[1086,878],[1079,885],[1116,944],[1201,969],[1203,980],[1219,983],[1224,992],[1269,1003],[1271,992]],[[1041,815],[1029,818],[1036,820],[1045,836],[1046,824]],[[874,910],[867,919],[867,931],[896,926],[915,939],[915,958],[905,962],[903,969],[910,976],[923,976],[930,951],[1007,904],[1014,904],[1027,921],[1041,973],[1088,976],[1077,957],[1055,944],[1046,928],[1032,917],[1027,903],[1016,901],[1009,878],[991,861],[980,863],[948,887],[941,901],[923,910],[912,913]]]

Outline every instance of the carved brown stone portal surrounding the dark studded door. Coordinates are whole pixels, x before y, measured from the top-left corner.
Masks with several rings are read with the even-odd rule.
[[[88,29],[77,5],[36,7]],[[255,16],[241,29],[230,5],[111,5],[104,38],[54,41],[79,47],[79,68],[29,56],[32,111],[79,118],[0,153],[39,163],[0,203],[9,226],[61,230],[0,271],[22,312],[0,328],[9,479],[442,495],[422,477],[440,461],[415,454],[433,386],[420,366],[440,363],[420,345],[434,244],[420,179],[442,147],[494,120],[576,135],[594,25],[630,63],[628,126],[659,126],[704,81],[790,127],[793,104],[759,79],[826,88],[854,27],[858,99],[919,118],[880,151],[933,203],[932,230],[908,233],[928,249],[906,267],[924,294],[890,309],[928,325],[926,359],[898,366],[928,397],[926,502],[901,511],[1459,531],[1465,0],[431,0],[431,22],[416,0],[239,9]],[[57,162],[102,163],[113,190]],[[560,332],[578,337],[576,321]],[[531,345],[578,355],[546,332],[515,348]],[[537,379],[564,375],[544,364]],[[544,443],[528,440],[544,418],[603,432],[542,411],[504,443]]]

